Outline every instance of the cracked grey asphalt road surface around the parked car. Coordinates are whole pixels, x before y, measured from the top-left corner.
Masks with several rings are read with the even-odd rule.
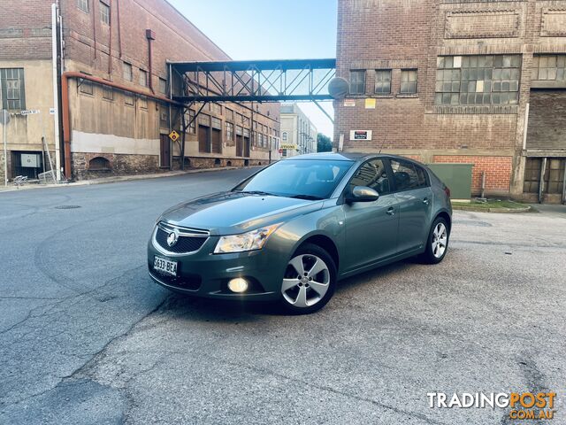
[[[486,424],[508,412],[426,393],[564,398],[563,209],[456,212],[443,263],[348,279],[310,316],[152,283],[157,215],[249,173],[0,193],[0,423]]]

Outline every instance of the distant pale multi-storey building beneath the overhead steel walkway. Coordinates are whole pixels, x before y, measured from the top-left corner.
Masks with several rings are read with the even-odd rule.
[[[298,104],[281,104],[280,120],[282,158],[317,151],[317,128]]]

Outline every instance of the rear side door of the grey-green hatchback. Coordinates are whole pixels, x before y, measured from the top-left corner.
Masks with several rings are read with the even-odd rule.
[[[420,249],[428,236],[432,190],[424,169],[411,161],[391,158],[399,207],[399,252]]]

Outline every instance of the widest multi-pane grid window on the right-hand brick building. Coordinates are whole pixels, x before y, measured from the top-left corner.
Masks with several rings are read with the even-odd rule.
[[[516,104],[519,55],[438,58],[436,104]]]

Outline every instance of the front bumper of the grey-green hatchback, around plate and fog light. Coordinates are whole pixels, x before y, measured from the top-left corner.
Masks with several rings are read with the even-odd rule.
[[[155,232],[154,232],[155,236]],[[210,236],[199,251],[188,254],[164,252],[152,236],[148,243],[149,275],[169,290],[203,298],[274,301],[280,297],[288,259],[281,252],[263,250],[213,254],[219,236]],[[177,261],[177,276],[162,274],[154,267],[155,257]],[[227,283],[242,277],[251,283],[248,291],[233,293]]]

